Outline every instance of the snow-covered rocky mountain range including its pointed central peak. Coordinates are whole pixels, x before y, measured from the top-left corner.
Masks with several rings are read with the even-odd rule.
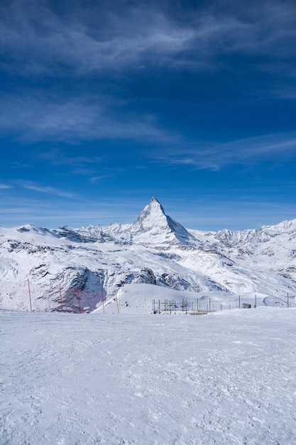
[[[186,230],[153,197],[129,225],[2,227],[0,279],[0,309],[92,311],[124,284],[139,283],[192,295],[294,295],[296,220]]]

